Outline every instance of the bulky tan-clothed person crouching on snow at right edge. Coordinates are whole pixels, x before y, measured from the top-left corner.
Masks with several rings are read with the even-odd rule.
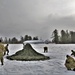
[[[75,60],[69,55],[66,55],[66,61],[65,61],[65,66],[67,70],[73,70],[75,71]]]

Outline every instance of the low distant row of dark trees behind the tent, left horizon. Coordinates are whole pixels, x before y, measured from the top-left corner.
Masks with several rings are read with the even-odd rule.
[[[19,44],[19,43],[23,43],[24,41],[27,41],[27,40],[39,40],[39,39],[38,39],[38,36],[32,37],[29,35],[25,35],[24,37],[21,36],[20,40],[18,40],[16,37],[13,37],[13,38],[5,37],[4,39],[2,37],[0,37],[0,40],[2,40],[3,43]]]

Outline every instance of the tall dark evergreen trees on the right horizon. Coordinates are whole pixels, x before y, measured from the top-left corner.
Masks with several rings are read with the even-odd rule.
[[[75,43],[75,32],[74,31],[68,31],[68,30],[61,30],[60,35],[58,33],[58,30],[55,29],[52,32],[52,42],[56,44],[69,44],[69,43]]]

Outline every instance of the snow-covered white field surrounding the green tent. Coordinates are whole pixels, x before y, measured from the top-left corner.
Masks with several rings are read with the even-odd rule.
[[[44,46],[48,47],[48,53],[43,52]],[[64,66],[66,55],[70,55],[72,49],[75,50],[75,44],[35,44],[32,47],[51,59],[45,61],[11,61],[4,56],[4,65],[0,65],[0,75],[75,75],[75,71],[68,71]],[[22,48],[22,44],[10,44],[9,55]]]

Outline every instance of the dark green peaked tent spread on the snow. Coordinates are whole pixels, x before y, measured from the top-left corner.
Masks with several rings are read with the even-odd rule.
[[[48,56],[36,52],[30,44],[26,44],[24,49],[16,52],[11,56],[7,56],[10,60],[20,60],[20,61],[32,61],[32,60],[46,60],[50,59]]]

